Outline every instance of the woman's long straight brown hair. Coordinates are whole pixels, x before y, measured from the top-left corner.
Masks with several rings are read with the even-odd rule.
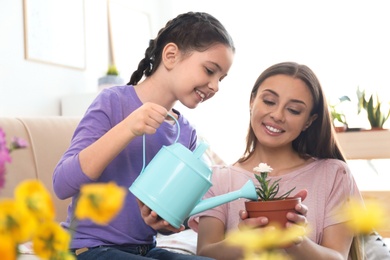
[[[288,75],[305,82],[313,98],[313,109],[310,115],[317,114],[317,119],[313,121],[309,128],[302,131],[293,141],[293,149],[302,157],[335,158],[345,161],[339,145],[335,138],[335,132],[331,122],[328,103],[324,96],[321,84],[314,72],[306,65],[295,62],[282,62],[267,68],[257,78],[253,86],[250,100],[256,97],[260,85],[267,78],[275,75]],[[256,148],[256,136],[252,126],[249,124],[247,134],[247,144],[244,156],[238,162],[248,160]]]

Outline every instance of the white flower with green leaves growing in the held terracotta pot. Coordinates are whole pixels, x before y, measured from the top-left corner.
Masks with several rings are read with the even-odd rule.
[[[279,192],[279,181],[281,179],[278,179],[272,183],[270,180],[267,179],[268,173],[270,173],[273,169],[266,163],[260,163],[259,166],[253,168],[253,170],[255,172],[258,172],[255,173],[255,177],[260,184],[256,187],[256,193],[259,200],[282,200],[287,198],[290,193],[295,189],[294,187],[283,195],[276,196]]]

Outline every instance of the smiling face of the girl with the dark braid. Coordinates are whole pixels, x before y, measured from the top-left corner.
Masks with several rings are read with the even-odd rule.
[[[186,107],[195,108],[213,97],[227,76],[233,57],[232,49],[223,44],[182,55],[171,71],[175,98]]]

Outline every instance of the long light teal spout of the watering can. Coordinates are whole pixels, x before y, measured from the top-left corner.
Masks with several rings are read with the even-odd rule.
[[[192,216],[198,214],[202,211],[217,207],[239,198],[257,200],[256,188],[251,180],[248,180],[239,190],[199,201],[199,203],[193,208],[189,215]]]

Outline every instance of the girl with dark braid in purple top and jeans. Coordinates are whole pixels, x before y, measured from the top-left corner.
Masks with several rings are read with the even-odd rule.
[[[54,170],[56,195],[72,197],[65,228],[71,229],[82,185],[115,181],[126,189],[131,186],[143,166],[142,135],[146,134],[146,163],[175,141],[178,130],[168,113],[180,125],[178,142],[195,149],[195,129],[173,106],[179,100],[195,108],[213,97],[234,52],[223,25],[207,13],[181,14],[159,31],[130,82],[104,89],[94,100]],[[107,226],[78,221],[71,230],[71,248],[78,259],[196,259],[155,248],[157,231],[183,229],[159,219],[128,193],[122,211]]]

